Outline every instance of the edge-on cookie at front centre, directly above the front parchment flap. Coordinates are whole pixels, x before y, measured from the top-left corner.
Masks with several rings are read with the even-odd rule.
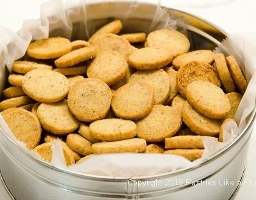
[[[140,153],[147,148],[145,139],[132,138],[120,141],[103,141],[92,145],[93,154]]]

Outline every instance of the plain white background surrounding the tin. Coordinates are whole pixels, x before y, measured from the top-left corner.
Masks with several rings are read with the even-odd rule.
[[[44,2],[45,0],[0,0],[0,24],[13,31],[19,31],[24,19],[39,18],[40,4]],[[162,0],[162,2],[164,5],[177,6],[182,10],[195,13],[229,33],[237,31],[255,31],[256,33],[256,1],[253,0]],[[255,134],[253,131],[244,177],[254,183],[256,183]],[[1,182],[0,199],[10,199]],[[256,184],[243,185],[235,199],[256,199]]]

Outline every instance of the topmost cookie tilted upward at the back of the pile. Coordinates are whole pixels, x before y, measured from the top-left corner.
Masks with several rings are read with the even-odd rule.
[[[121,31],[123,25],[120,20],[114,20],[109,24],[102,26],[98,31],[96,31],[88,40],[89,43],[93,43],[97,38],[103,36],[104,34],[113,33],[118,34]]]

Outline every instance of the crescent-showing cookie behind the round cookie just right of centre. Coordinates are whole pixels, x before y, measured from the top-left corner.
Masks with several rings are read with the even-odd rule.
[[[129,83],[145,82],[154,89],[154,104],[162,104],[170,95],[170,78],[163,69],[141,70],[134,73]]]

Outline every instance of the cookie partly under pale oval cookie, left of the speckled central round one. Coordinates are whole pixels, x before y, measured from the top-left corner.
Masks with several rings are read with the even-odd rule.
[[[79,120],[68,109],[66,99],[56,103],[40,104],[37,116],[44,129],[54,134],[68,134],[80,125]]]

